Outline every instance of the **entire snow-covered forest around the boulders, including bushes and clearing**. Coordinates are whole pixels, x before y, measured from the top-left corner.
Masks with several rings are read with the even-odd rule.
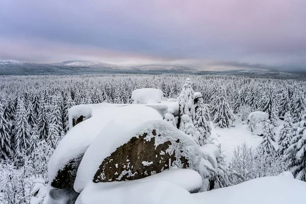
[[[163,119],[193,138],[210,162],[199,170],[205,174],[200,191],[282,172],[306,181],[304,81],[192,74],[2,76],[0,203],[43,202],[47,165],[69,131],[71,107],[132,104],[132,91],[142,88],[160,89],[179,104],[177,116],[169,108]],[[226,154],[223,130],[241,134],[242,128],[249,135]],[[250,137],[259,141],[256,146]]]

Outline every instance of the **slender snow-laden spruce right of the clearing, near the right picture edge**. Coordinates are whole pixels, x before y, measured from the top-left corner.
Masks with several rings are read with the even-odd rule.
[[[278,152],[281,155],[284,155],[290,146],[290,141],[295,136],[297,131],[296,126],[293,124],[292,117],[290,113],[286,113],[284,126],[281,131],[279,131],[279,140],[278,140]]]

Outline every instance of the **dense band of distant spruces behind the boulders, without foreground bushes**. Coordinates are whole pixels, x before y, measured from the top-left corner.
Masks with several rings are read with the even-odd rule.
[[[192,78],[193,90],[202,93],[203,103],[226,103],[228,114],[245,119],[243,112],[266,111],[273,120],[289,111],[294,122],[301,119],[306,92],[302,81],[186,74],[1,77],[0,157],[31,154],[43,140],[55,148],[68,131],[71,106],[129,104],[132,91],[139,88],[159,88],[165,97],[177,98],[187,77]],[[219,124],[218,112],[212,111],[213,121]],[[226,121],[220,124],[228,126]]]

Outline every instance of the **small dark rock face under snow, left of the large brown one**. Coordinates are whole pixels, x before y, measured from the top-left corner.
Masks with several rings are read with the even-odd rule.
[[[69,160],[61,169],[59,169],[57,176],[50,185],[58,189],[73,189],[75,176],[77,176],[77,171],[83,155],[84,154]]]

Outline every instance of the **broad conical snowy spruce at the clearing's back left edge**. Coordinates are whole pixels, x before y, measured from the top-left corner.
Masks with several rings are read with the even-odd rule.
[[[214,106],[211,110],[213,122],[221,128],[230,127],[232,113],[226,100],[225,91],[222,87],[219,88],[218,97],[215,98],[213,104]]]

